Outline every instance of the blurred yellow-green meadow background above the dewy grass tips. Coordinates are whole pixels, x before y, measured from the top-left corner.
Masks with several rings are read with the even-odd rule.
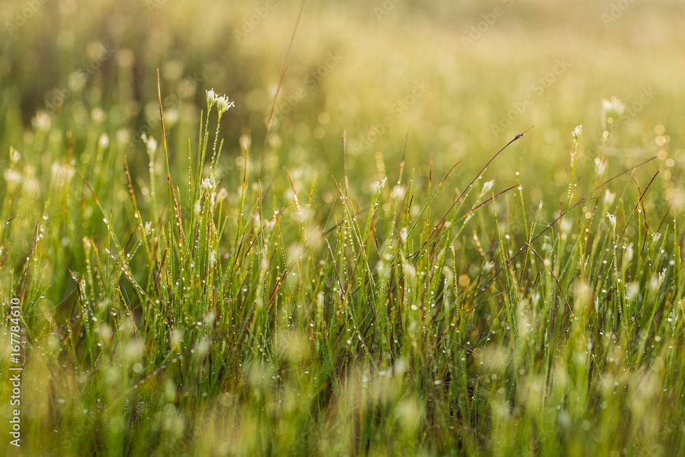
[[[241,144],[251,169],[259,166],[300,5],[5,0],[0,148],[40,151],[36,166],[51,166],[64,158],[45,154],[63,150],[71,136],[73,160],[87,168],[104,133],[116,144],[118,171],[124,154],[134,169],[147,167],[140,134],[161,136],[159,68],[172,172],[185,173],[188,138],[195,150],[205,90],[214,88],[236,102],[223,122],[221,169],[223,185],[237,186]],[[316,173],[320,201],[335,191],[330,177],[342,176],[347,129],[356,193],[386,174],[397,178],[407,135],[408,170],[427,177],[432,156],[440,179],[461,160],[449,184],[464,186],[535,125],[486,177],[497,188],[518,179],[534,203],[553,202],[570,179],[571,132],[582,124],[581,167],[595,166],[606,130],[608,166],[620,171],[658,154],[649,166],[677,182],[685,161],[684,24],[682,1],[308,1],[276,103],[264,180],[287,191],[285,168],[306,188]],[[614,96],[625,112],[608,125],[601,101]],[[41,125],[45,151],[34,145]],[[666,187],[671,199],[685,200]]]

